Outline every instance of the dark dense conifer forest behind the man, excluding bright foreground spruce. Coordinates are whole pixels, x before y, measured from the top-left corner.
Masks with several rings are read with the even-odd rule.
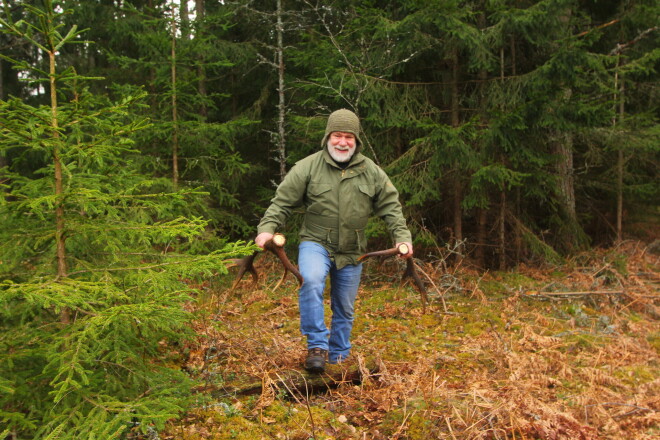
[[[5,5],[13,20],[22,3]],[[58,68],[100,78],[95,96],[146,93],[129,109],[150,122],[133,136],[141,172],[209,192],[197,209],[221,236],[254,234],[342,107],[422,247],[506,267],[643,234],[657,215],[655,2],[57,4],[86,29]],[[12,36],[2,51],[46,62]],[[49,97],[7,60],[1,78],[3,99]],[[24,153],[3,149],[3,165],[33,171]]]

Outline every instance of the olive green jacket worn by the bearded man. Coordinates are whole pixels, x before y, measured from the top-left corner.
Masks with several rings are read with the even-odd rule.
[[[372,214],[385,221],[395,243],[412,242],[398,191],[385,172],[360,153],[343,170],[326,148],[297,162],[277,188],[258,233],[275,233],[301,206],[301,241],[323,245],[338,269],[357,264],[365,253],[364,229]]]

